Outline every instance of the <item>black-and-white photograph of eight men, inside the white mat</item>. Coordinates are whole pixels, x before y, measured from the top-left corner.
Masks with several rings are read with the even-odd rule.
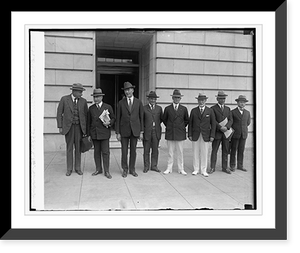
[[[30,33],[44,210],[256,208],[255,28]]]

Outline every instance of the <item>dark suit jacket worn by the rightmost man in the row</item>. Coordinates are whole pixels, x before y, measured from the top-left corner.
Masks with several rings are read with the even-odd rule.
[[[250,112],[244,109],[243,114],[240,113],[238,108],[235,108],[231,111],[233,123],[232,128],[234,129],[234,133],[232,138],[246,139],[248,137],[248,126],[251,123]]]

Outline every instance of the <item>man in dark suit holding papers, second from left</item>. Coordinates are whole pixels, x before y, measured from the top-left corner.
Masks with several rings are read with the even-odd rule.
[[[93,94],[91,94],[95,103],[89,108],[87,134],[91,137],[94,144],[96,171],[92,175],[96,176],[102,173],[102,156],[104,175],[111,179],[112,177],[109,173],[109,138],[111,136],[111,127],[115,122],[115,115],[112,107],[102,101],[104,95],[101,89],[94,89]]]

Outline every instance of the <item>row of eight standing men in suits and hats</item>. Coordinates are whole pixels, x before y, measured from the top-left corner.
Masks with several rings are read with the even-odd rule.
[[[96,171],[93,176],[103,173],[107,178],[112,178],[109,173],[109,139],[111,127],[115,124],[117,140],[121,142],[121,167],[122,176],[128,173],[134,177],[137,141],[142,140],[144,146],[144,173],[149,170],[160,172],[158,169],[159,142],[162,134],[161,124],[166,126],[165,139],[168,147],[167,169],[164,174],[172,173],[173,163],[177,157],[178,173],[186,175],[183,159],[183,142],[186,140],[186,127],[188,126],[188,139],[192,141],[193,147],[193,175],[201,173],[208,176],[215,171],[217,152],[222,143],[222,171],[230,174],[237,169],[246,171],[243,167],[243,157],[248,126],[250,124],[250,113],[245,109],[248,102],[245,96],[240,95],[236,101],[238,107],[230,110],[225,105],[227,94],[219,91],[216,95],[218,103],[212,107],[206,106],[207,96],[199,93],[196,99],[198,106],[193,108],[190,115],[185,106],[180,104],[183,95],[178,89],[173,91],[173,102],[166,106],[164,112],[156,101],[159,96],[155,91],[147,95],[148,104],[143,105],[141,100],[135,98],[135,86],[125,82],[125,96],[118,103],[116,116],[110,105],[104,103],[102,90],[94,89],[94,104],[89,108],[86,99],[82,98],[85,90],[80,83],[71,87],[72,93],[63,96],[57,108],[57,126],[59,132],[65,135],[67,176],[73,171],[73,152],[75,149],[75,172],[82,175],[81,171],[81,139],[89,136],[94,145],[94,161]],[[106,120],[103,119],[105,114]],[[221,124],[224,123],[224,124]],[[225,133],[232,131],[230,137]],[[231,139],[231,144],[229,140]],[[212,143],[210,170],[207,169],[208,148]],[[129,164],[128,164],[128,145]],[[230,151],[230,168],[228,168],[228,154]],[[150,154],[151,152],[151,154]],[[175,154],[176,152],[176,154]],[[236,159],[237,153],[237,159]],[[237,160],[237,164],[236,164]]]

